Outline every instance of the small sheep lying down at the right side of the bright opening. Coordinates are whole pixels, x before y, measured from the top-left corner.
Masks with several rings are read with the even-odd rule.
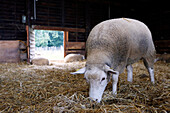
[[[64,62],[68,63],[68,62],[76,62],[76,61],[82,61],[84,60],[84,56],[80,55],[80,54],[68,54],[65,58],[64,58]]]

